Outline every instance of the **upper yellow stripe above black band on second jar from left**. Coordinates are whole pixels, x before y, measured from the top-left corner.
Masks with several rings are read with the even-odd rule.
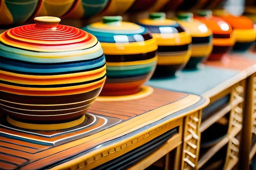
[[[106,43],[101,42],[106,55],[139,54],[157,50],[155,38],[143,42]]]

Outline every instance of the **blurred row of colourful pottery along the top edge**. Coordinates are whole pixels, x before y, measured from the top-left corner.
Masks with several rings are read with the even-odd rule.
[[[102,15],[122,15],[125,12],[150,12],[216,7],[222,0],[0,0],[0,25],[30,22],[36,16],[85,18]]]

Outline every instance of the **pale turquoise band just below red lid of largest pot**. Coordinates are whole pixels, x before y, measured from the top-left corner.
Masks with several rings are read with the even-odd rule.
[[[99,42],[97,46],[100,45]],[[92,47],[92,48],[95,48]],[[90,48],[90,50],[92,49]],[[0,56],[6,57],[14,60],[29,61],[35,63],[59,63],[59,62],[73,62],[80,60],[91,60],[96,57],[99,57],[103,54],[102,48],[94,53],[88,53],[89,49],[76,50],[76,51],[64,51],[64,52],[35,52],[35,51],[26,51],[22,49],[11,48],[9,46],[4,46],[0,44]],[[85,53],[83,55],[78,55],[79,53]],[[58,58],[50,58],[49,56],[56,56]],[[36,56],[36,57],[35,57]],[[43,57],[43,58],[40,58]]]

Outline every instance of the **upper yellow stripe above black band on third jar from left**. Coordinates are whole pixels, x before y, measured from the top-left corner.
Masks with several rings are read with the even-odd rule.
[[[184,45],[190,44],[192,41],[191,35],[186,31],[182,33],[152,33],[152,35],[156,38],[159,46]]]

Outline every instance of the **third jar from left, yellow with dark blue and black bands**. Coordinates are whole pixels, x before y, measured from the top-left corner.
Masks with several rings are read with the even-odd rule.
[[[157,68],[153,77],[175,76],[191,56],[191,35],[165,13],[150,13],[149,18],[137,24],[146,27],[157,40]]]

